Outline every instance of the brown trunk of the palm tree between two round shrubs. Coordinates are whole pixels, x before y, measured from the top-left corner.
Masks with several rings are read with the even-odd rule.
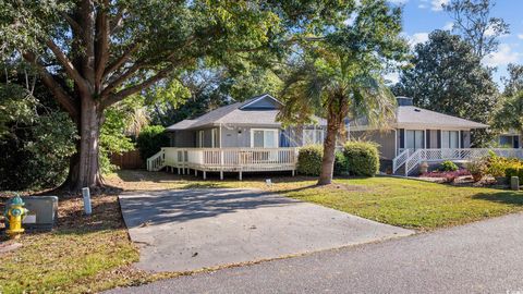
[[[324,140],[324,158],[321,160],[321,172],[319,174],[318,185],[328,185],[332,182],[335,171],[336,138],[338,136],[339,125],[335,120],[327,121],[327,136]]]

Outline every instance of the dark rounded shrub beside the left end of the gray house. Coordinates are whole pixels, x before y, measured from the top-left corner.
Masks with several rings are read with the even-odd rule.
[[[149,125],[142,130],[136,138],[139,156],[145,160],[157,154],[161,147],[169,146],[169,137],[161,125]]]

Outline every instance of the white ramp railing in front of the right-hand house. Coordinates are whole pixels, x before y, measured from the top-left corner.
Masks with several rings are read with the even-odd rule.
[[[410,156],[408,157],[408,159],[404,160],[405,175],[409,175],[409,173],[412,170],[414,170],[419,163],[422,163],[422,161],[427,161],[427,162],[439,162],[445,160],[450,160],[450,161],[465,160],[466,161],[466,160],[485,157],[489,154],[489,151],[492,151],[500,157],[523,158],[523,149],[509,149],[509,148],[417,149],[413,152],[410,152]],[[397,158],[394,158],[392,162],[393,172],[396,172],[399,168],[401,168],[400,162],[403,161],[403,156],[404,156],[404,151],[401,152]],[[397,159],[398,159],[398,162],[394,166],[394,161],[397,161]]]

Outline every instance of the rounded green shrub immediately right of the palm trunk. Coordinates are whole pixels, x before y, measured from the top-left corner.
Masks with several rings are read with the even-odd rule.
[[[379,171],[379,152],[374,143],[348,142],[343,155],[351,175],[374,176]]]

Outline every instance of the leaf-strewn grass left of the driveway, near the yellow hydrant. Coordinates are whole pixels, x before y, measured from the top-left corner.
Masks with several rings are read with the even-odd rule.
[[[82,209],[80,196],[62,197],[56,230],[26,233],[21,248],[0,255],[0,293],[86,293],[168,277],[131,266],[139,255],[115,195],[93,197],[90,217]]]

